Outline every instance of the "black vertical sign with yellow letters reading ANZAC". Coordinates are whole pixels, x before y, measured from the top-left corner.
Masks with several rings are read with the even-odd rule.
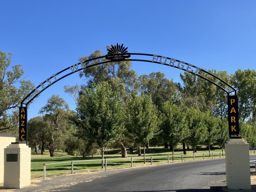
[[[19,140],[27,141],[27,107],[20,107],[19,110]]]

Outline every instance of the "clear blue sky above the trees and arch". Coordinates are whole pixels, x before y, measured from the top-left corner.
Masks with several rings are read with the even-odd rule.
[[[206,69],[255,69],[256,1],[1,1],[0,50],[12,52],[36,86],[96,49],[124,44],[129,52],[159,54]],[[161,71],[180,81],[179,69],[133,62],[139,75]],[[78,73],[41,93],[28,119],[52,94],[81,84]]]

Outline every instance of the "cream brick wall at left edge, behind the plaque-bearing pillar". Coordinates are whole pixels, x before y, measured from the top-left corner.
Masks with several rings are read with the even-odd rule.
[[[0,183],[4,182],[4,148],[15,142],[16,135],[0,133]]]

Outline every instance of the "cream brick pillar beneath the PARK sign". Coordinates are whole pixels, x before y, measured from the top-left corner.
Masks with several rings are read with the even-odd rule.
[[[251,190],[249,144],[244,139],[229,139],[225,154],[228,189]]]

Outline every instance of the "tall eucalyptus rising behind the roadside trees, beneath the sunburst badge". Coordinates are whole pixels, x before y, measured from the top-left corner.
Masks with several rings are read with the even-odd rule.
[[[107,46],[107,49],[110,47]],[[100,50],[96,50],[89,56],[80,57],[80,61],[85,61],[95,57],[104,56],[104,53]],[[86,63],[86,66],[93,65],[99,62],[104,62],[106,59],[100,58],[97,60],[89,61]],[[78,85],[64,87],[65,92],[68,92],[73,96],[73,98],[78,101],[79,94],[82,94],[84,87],[90,88],[92,84],[99,84],[101,82],[107,82],[111,85],[112,91],[119,92],[121,100],[126,105],[129,97],[131,95],[136,95],[138,93],[138,75],[135,70],[131,69],[131,61],[113,61],[110,63],[96,65],[90,68],[84,68],[83,71],[79,73],[81,78],[85,78],[85,84],[81,85],[81,88]],[[130,143],[131,138],[129,139],[129,133],[127,129],[124,128],[121,131],[120,138],[118,138],[118,143],[120,144],[122,157],[127,157],[126,153],[126,144]]]

